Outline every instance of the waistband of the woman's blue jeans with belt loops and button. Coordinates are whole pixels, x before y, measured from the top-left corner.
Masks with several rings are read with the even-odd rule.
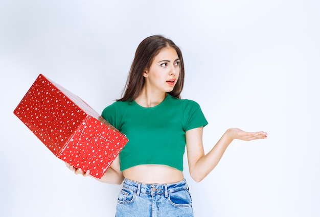
[[[188,184],[185,179],[176,182],[176,183],[168,183],[168,184],[145,184],[136,181],[132,181],[129,179],[124,179],[123,187],[131,189],[136,192],[136,195],[139,196],[140,193],[143,194],[165,194],[168,197],[169,193],[189,189]]]

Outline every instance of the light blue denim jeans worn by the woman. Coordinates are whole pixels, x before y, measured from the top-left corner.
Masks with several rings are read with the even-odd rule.
[[[118,196],[116,217],[192,217],[186,180],[143,184],[125,179]]]

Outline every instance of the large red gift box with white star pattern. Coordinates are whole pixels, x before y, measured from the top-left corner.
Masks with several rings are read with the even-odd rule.
[[[99,179],[128,141],[77,95],[41,74],[13,113],[58,158]]]

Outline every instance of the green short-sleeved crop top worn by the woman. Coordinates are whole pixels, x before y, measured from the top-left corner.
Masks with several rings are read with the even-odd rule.
[[[120,170],[141,164],[164,164],[183,170],[186,131],[208,124],[200,106],[167,95],[155,107],[117,101],[102,116],[129,139],[120,152]]]

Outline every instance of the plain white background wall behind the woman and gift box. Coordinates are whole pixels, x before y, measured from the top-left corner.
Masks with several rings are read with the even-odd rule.
[[[0,216],[114,216],[120,185],[76,176],[13,110],[42,73],[99,113],[120,97],[136,46],[163,34],[186,65],[182,98],[209,121],[208,152],[234,141],[202,182],[195,216],[320,216],[318,1],[0,1]]]

